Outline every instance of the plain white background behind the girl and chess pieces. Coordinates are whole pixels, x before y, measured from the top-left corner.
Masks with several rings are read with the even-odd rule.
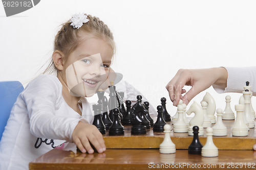
[[[40,74],[53,52],[61,23],[74,13],[99,17],[117,44],[112,65],[154,108],[167,98],[165,85],[179,68],[252,66],[256,56],[255,1],[85,1],[41,0],[34,8],[6,17],[0,5],[0,81],[26,84]],[[189,88],[186,88],[189,89]],[[217,108],[225,96],[210,87]],[[194,98],[200,103],[205,91]],[[241,94],[230,93],[231,106]],[[254,99],[253,99],[254,100]]]

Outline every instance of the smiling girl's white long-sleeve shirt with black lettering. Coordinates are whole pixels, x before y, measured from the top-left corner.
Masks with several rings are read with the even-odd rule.
[[[0,169],[28,169],[30,161],[57,147],[76,150],[72,132],[79,121],[92,123],[86,98],[81,98],[82,114],[62,97],[56,76],[41,75],[32,80],[14,104],[0,142]]]

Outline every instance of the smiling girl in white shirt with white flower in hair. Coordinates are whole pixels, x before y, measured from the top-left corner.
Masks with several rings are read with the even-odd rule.
[[[99,18],[76,14],[54,41],[52,62],[19,94],[0,143],[0,169],[28,169],[59,146],[92,154],[106,150],[86,98],[105,88],[115,52],[113,35]],[[91,144],[90,144],[91,143]]]

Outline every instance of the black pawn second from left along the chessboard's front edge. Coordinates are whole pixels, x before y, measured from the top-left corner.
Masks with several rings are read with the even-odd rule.
[[[119,120],[119,109],[113,109],[114,112],[114,121],[112,126],[110,127],[109,134],[110,135],[123,135],[124,134],[124,127],[121,125]]]

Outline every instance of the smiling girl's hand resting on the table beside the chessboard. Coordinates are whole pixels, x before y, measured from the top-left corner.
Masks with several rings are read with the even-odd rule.
[[[102,134],[94,125],[79,122],[72,133],[72,139],[82,153],[88,152],[89,154],[93,154],[94,150],[91,144],[98,153],[106,150]]]

